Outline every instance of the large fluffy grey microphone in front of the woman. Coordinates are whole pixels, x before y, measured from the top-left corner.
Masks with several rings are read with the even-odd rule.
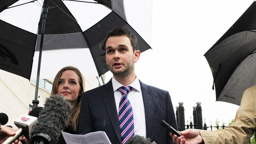
[[[32,144],[56,144],[60,132],[68,126],[71,104],[60,95],[46,98],[35,127],[31,129]]]

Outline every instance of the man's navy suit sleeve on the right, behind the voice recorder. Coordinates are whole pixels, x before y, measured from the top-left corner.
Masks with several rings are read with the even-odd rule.
[[[171,96],[169,94],[169,92],[167,92],[167,97],[166,97],[166,109],[167,109],[167,114],[166,114],[166,120],[167,123],[170,124],[174,129],[176,129],[178,131],[178,127],[177,127],[177,122],[176,122],[176,118],[175,118],[175,113],[173,110],[173,106],[172,106],[172,100],[171,100]],[[170,136],[170,132],[166,131],[166,143],[168,144],[172,144],[172,138]]]

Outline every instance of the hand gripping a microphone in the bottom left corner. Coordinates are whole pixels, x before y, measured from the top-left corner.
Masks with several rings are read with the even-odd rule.
[[[17,130],[15,130],[14,128],[10,128],[8,126],[0,125],[0,144],[2,144],[10,136],[14,136],[16,131]],[[15,140],[13,143],[14,144],[21,144],[21,142],[20,142],[21,140],[23,140],[26,144],[28,144],[28,140],[23,136],[20,136],[18,138],[18,140]]]

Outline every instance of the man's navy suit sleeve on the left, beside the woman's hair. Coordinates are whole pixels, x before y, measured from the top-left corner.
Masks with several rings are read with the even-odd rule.
[[[91,111],[86,98],[86,93],[82,95],[81,107],[78,120],[78,134],[94,132]]]

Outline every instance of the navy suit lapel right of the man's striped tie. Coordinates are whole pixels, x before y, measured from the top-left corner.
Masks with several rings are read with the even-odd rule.
[[[144,109],[145,109],[145,120],[146,120],[146,134],[147,137],[152,140],[152,125],[153,125],[153,99],[150,95],[150,90],[148,89],[148,85],[142,83],[140,81],[140,88],[144,103]]]

